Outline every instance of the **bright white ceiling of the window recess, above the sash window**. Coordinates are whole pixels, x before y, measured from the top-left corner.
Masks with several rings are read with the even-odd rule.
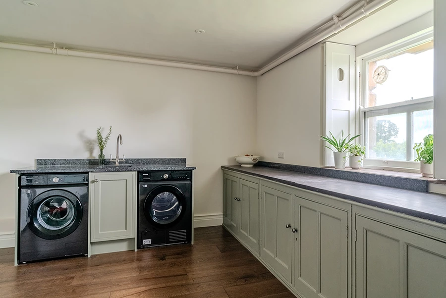
[[[433,0],[397,0],[339,32],[330,41],[356,46],[433,9]]]

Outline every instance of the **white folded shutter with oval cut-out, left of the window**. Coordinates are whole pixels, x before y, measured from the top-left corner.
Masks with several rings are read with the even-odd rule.
[[[324,134],[332,132],[339,138],[343,130],[344,137],[354,136],[355,47],[325,43],[325,65]],[[333,151],[324,147],[324,152],[324,165],[334,166]]]

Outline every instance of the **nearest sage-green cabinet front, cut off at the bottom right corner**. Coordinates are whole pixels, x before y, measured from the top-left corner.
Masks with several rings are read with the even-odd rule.
[[[356,215],[356,298],[446,295],[446,243]]]

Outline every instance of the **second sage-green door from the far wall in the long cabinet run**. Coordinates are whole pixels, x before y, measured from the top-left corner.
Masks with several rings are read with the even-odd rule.
[[[239,179],[240,240],[255,252],[259,252],[260,239],[260,202],[259,185]]]

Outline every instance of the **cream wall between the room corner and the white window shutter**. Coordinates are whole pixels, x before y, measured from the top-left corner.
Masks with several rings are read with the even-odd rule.
[[[316,45],[257,78],[257,153],[262,160],[323,163],[323,61]],[[278,152],[285,151],[285,158]]]

